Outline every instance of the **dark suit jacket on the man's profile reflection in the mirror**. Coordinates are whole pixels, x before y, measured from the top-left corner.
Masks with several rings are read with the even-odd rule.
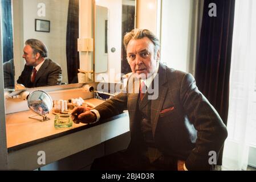
[[[51,59],[44,60],[44,63],[36,73],[33,83],[31,82],[32,69],[32,66],[25,65],[17,83],[23,84],[27,88],[33,88],[38,86],[60,85],[62,82],[62,68]]]

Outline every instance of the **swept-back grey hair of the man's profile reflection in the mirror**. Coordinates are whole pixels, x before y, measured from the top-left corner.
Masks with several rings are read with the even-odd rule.
[[[25,42],[26,45],[29,45],[33,49],[33,54],[40,53],[41,57],[47,57],[47,47],[40,40],[37,39],[28,39]]]

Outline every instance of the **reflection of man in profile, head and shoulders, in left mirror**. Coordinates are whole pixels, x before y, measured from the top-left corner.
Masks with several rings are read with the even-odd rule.
[[[26,65],[17,83],[27,88],[60,85],[62,68],[47,58],[47,47],[40,40],[29,39],[25,42],[23,58]]]

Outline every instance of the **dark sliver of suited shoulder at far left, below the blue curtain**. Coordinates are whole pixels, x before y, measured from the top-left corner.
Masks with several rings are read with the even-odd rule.
[[[5,88],[13,89],[14,88],[14,63],[13,59],[3,63],[3,77],[5,79]]]

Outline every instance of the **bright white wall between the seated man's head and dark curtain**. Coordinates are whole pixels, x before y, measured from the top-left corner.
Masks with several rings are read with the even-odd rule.
[[[161,62],[194,74],[201,0],[162,0]]]

